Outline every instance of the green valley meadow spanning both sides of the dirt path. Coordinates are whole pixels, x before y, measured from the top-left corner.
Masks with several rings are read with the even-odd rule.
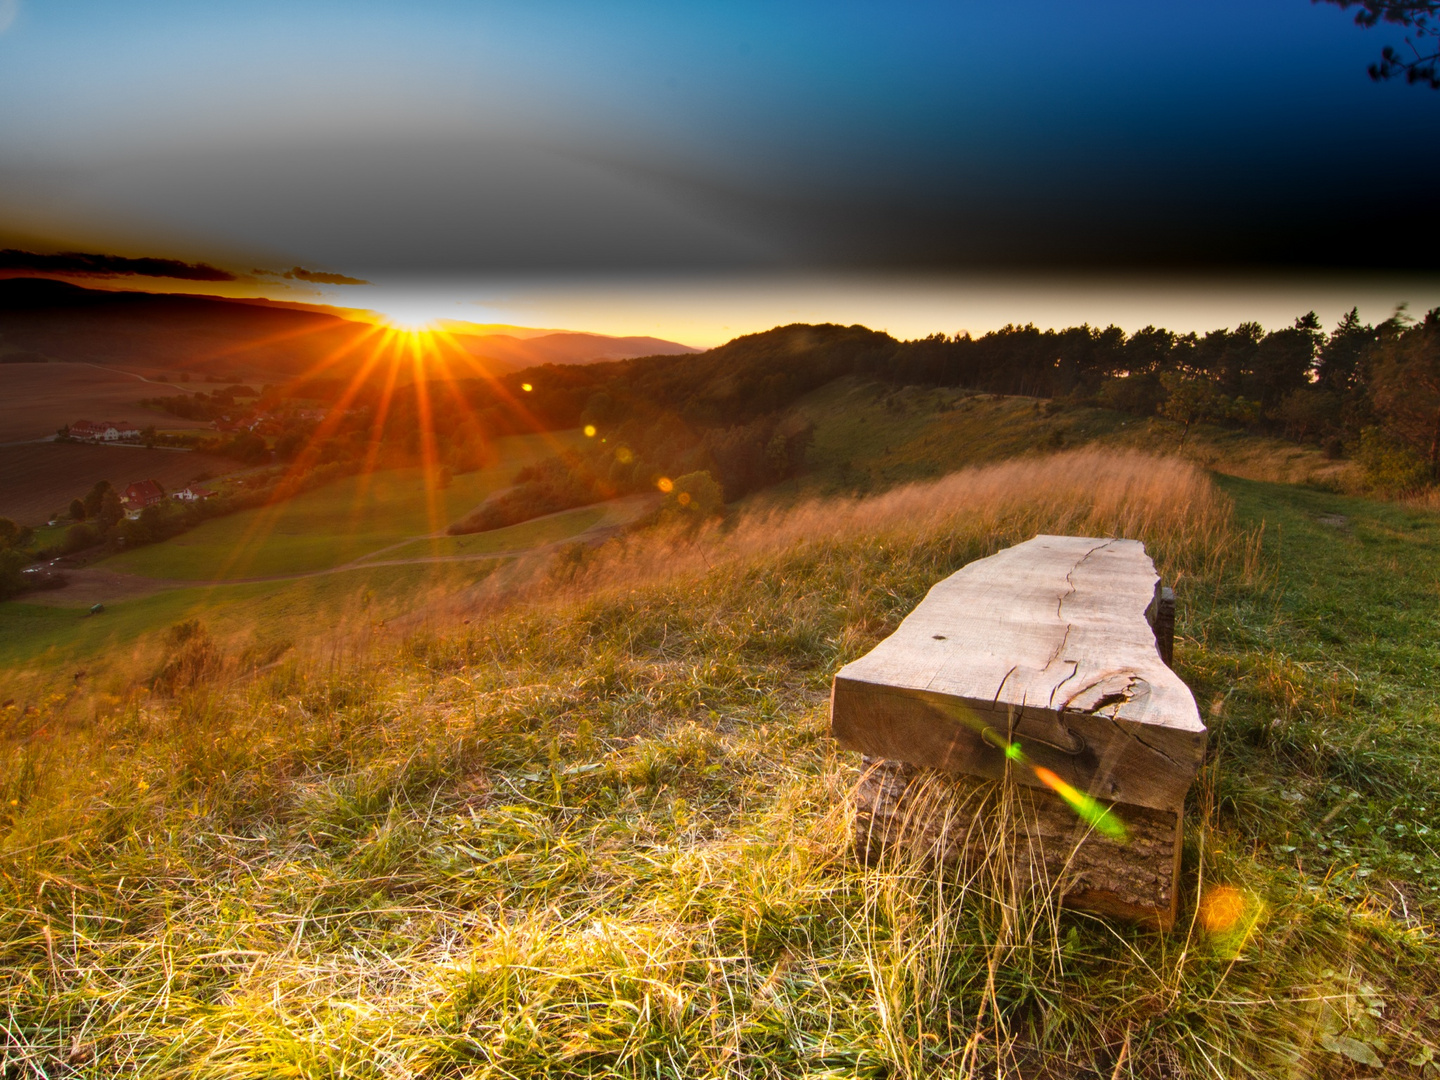
[[[498,560],[500,553],[625,520],[624,507],[580,508],[491,533],[444,536],[446,524],[507,485],[517,468],[579,438],[576,432],[507,436],[497,441],[494,465],[456,475],[444,488],[428,488],[420,469],[350,477],[109,556],[94,566],[153,577],[156,588],[148,595],[131,589],[102,596],[104,615],[89,613],[89,599],[68,605],[63,592],[40,602],[6,602],[0,605],[0,670],[6,672],[0,700],[33,700],[42,688],[72,683],[75,671],[105,693],[128,693],[161,664],[168,629],[189,619],[243,642],[232,648],[236,662],[271,662],[317,639],[369,632],[423,608],[431,595],[487,577],[497,564],[384,563],[485,554]],[[259,577],[274,580],[246,580]]]

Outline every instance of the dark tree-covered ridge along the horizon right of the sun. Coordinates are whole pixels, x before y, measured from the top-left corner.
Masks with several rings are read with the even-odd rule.
[[[1356,456],[1391,490],[1440,480],[1440,310],[1420,321],[1401,311],[1378,325],[1352,310],[1329,331],[1310,312],[1269,333],[1256,323],[1207,334],[1009,325],[978,338],[917,341],[864,327],[792,325],[694,356],[569,369],[556,387],[549,374],[514,377],[547,392],[541,415],[559,413],[562,426],[595,423],[612,444],[654,454],[674,471],[681,465],[672,462],[694,464],[707,452],[717,478],[727,468],[720,432],[775,423],[805,393],[857,374],[1164,416],[1182,439],[1197,422],[1270,432]],[[755,468],[766,456],[755,439],[742,442],[753,464],[732,468],[727,498],[763,482],[742,475],[776,475]]]

